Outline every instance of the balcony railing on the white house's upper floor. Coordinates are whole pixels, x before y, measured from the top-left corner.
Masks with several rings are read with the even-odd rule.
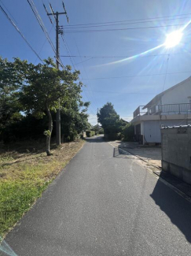
[[[164,105],[154,105],[148,106],[147,109],[144,109],[145,106],[138,106],[134,111],[134,117],[143,116],[143,115],[157,115],[157,114],[185,114],[191,113],[191,104],[190,103],[180,103],[180,104],[164,104]]]

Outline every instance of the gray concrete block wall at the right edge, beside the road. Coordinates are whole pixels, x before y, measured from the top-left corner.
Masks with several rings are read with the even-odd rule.
[[[191,127],[162,128],[162,169],[191,184]]]

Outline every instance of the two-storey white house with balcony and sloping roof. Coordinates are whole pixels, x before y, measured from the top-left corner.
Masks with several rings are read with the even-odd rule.
[[[191,76],[156,95],[134,111],[134,135],[139,143],[161,143],[161,126],[191,124]]]

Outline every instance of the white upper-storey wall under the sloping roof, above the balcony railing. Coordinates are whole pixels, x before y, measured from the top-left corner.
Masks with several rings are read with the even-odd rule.
[[[191,97],[191,79],[183,81],[180,86],[174,88],[173,90],[165,93],[162,98],[162,104],[177,104],[177,103],[189,103],[188,98]]]

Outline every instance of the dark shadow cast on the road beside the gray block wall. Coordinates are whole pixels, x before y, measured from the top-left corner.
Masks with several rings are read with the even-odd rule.
[[[157,181],[150,196],[191,243],[191,203],[175,194],[160,180]]]

